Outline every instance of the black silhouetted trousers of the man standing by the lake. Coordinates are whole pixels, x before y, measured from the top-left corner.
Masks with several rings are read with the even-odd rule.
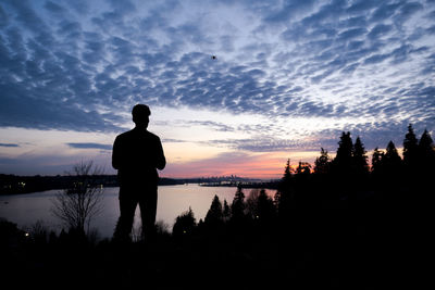
[[[129,240],[137,204],[139,204],[142,222],[142,238],[151,238],[154,234],[157,199],[157,185],[121,186],[121,215],[113,238],[120,241]]]

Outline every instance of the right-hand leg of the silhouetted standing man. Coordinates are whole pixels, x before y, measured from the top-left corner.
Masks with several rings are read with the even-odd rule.
[[[152,239],[156,234],[157,186],[148,187],[139,200],[140,217],[142,219],[142,238]]]

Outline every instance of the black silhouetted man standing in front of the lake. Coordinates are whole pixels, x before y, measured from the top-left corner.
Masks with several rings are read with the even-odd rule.
[[[129,240],[135,211],[139,204],[142,236],[153,234],[158,199],[157,169],[163,169],[166,160],[160,138],[147,130],[151,111],[146,104],[136,104],[132,111],[136,127],[119,135],[113,143],[112,165],[120,181],[120,219],[114,239]]]

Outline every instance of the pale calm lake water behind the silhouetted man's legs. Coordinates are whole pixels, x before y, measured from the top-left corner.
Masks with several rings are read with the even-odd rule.
[[[104,188],[102,211],[91,222],[90,228],[98,230],[102,238],[113,235],[116,220],[120,216],[119,188]],[[217,194],[221,202],[232,203],[237,188],[235,187],[200,187],[197,184],[161,186],[159,187],[159,201],[157,220],[162,220],[172,230],[175,218],[189,206],[194,211],[197,222],[204,218],[213,197]],[[244,189],[246,197],[250,189]],[[30,228],[37,220],[55,231],[62,228],[58,218],[52,216],[52,200],[60,190],[48,190],[28,194],[0,196],[0,217],[16,223],[21,228]],[[274,197],[275,190],[266,190],[268,196]],[[135,227],[140,226],[139,206],[136,209]]]

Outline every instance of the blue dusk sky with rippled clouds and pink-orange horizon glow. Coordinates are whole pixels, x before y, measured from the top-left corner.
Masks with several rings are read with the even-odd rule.
[[[343,130],[434,135],[434,79],[433,0],[0,0],[0,173],[114,173],[147,103],[162,176],[279,177]]]

